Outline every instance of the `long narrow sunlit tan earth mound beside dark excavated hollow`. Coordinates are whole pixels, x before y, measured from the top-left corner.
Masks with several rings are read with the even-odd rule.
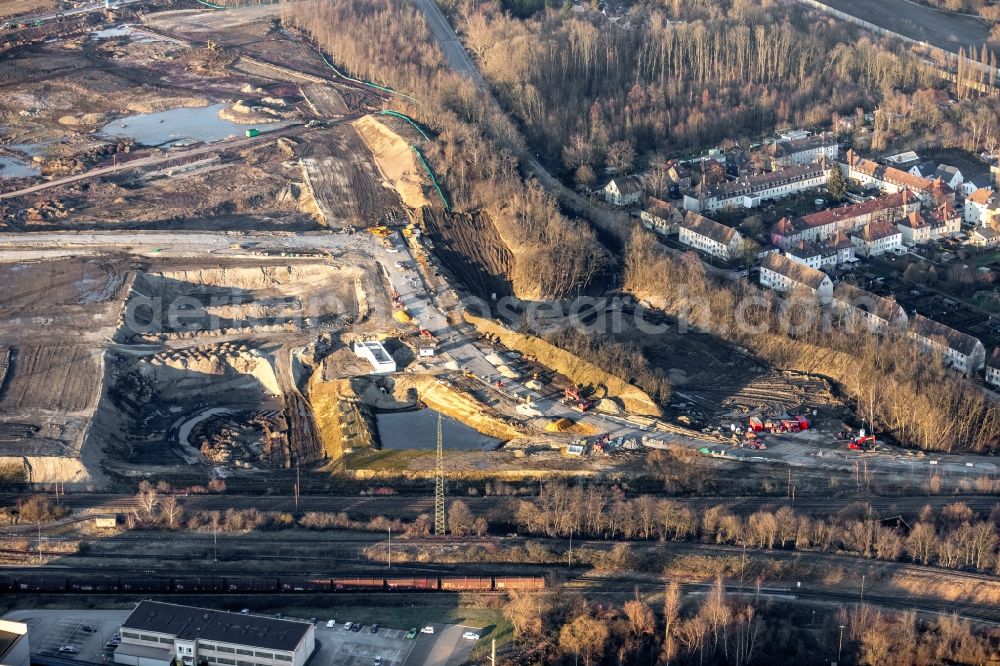
[[[641,389],[608,374],[593,363],[545,342],[541,338],[517,333],[492,319],[482,319],[468,313],[465,313],[465,319],[481,333],[498,338],[507,347],[516,349],[547,368],[552,368],[574,383],[605,387],[609,397],[613,396],[621,400],[625,410],[631,414],[657,418],[663,414],[656,401]]]

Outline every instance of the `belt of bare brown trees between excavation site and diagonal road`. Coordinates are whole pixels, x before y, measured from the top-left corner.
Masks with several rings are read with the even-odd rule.
[[[447,70],[412,3],[283,0],[282,20],[310,35],[342,71],[417,98],[394,99],[393,108],[436,134],[424,148],[453,206],[490,212],[513,251],[509,277],[519,296],[561,298],[613,264],[589,226],[524,184],[510,150],[523,147],[516,130],[471,81]]]

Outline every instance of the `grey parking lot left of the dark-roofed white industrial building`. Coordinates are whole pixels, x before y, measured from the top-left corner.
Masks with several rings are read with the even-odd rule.
[[[113,657],[104,644],[118,633],[130,610],[23,610],[12,611],[5,619],[28,625],[28,643],[31,654],[53,656],[89,662],[111,663]],[[93,633],[83,630],[84,625],[96,629]],[[76,653],[59,653],[64,645],[78,650]]]

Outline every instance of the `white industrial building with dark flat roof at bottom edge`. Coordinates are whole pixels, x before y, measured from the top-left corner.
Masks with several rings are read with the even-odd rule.
[[[302,666],[311,622],[142,601],[126,618],[115,663],[130,666]]]

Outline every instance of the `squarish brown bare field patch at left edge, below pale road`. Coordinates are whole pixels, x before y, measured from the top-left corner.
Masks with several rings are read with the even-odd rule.
[[[101,380],[99,352],[70,345],[19,347],[0,391],[0,412],[92,408]]]

